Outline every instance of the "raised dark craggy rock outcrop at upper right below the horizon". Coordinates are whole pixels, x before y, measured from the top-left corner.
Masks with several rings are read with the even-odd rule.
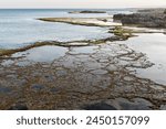
[[[122,22],[123,25],[141,26],[141,28],[166,28],[166,10],[149,9],[139,10],[133,14],[115,14],[115,22]]]

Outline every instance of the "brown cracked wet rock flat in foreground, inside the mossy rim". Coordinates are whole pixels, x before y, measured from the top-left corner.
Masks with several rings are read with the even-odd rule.
[[[27,56],[9,61],[0,60],[0,109],[146,110],[166,103],[164,85],[135,75],[153,63],[121,43],[71,46],[50,63]],[[12,88],[10,96],[6,87]]]

